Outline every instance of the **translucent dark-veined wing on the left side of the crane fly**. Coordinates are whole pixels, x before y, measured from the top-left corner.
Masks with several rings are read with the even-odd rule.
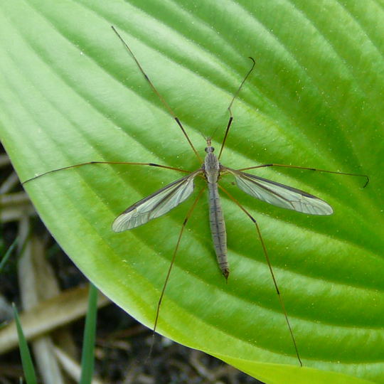
[[[168,186],[134,203],[124,210],[121,215],[117,216],[112,224],[112,230],[122,232],[139,227],[139,225],[148,223],[149,220],[154,218],[159,218],[159,216],[183,203],[193,192],[193,179],[200,173],[201,171],[198,170],[188,176],[179,178],[168,184]]]

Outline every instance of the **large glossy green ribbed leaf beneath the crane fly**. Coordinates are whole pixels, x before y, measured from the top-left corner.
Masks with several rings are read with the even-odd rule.
[[[255,226],[223,196],[230,277],[218,270],[208,206],[188,221],[158,331],[267,383],[384,382],[383,29],[381,1],[11,1],[1,4],[1,140],[21,180],[85,161],[200,162],[110,26],[120,31],[201,156],[201,135],[233,168],[295,164],[260,176],[323,198],[334,215],[268,206],[223,178],[262,230],[304,368]],[[217,131],[215,131],[217,129]],[[127,206],[181,175],[89,165],[26,184],[80,270],[152,327],[193,198],[126,233]],[[204,185],[197,181],[198,188]],[[197,188],[196,188],[197,189]],[[312,369],[316,368],[316,369]]]

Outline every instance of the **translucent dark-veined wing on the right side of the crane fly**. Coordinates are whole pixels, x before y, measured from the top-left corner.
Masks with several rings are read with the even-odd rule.
[[[309,215],[331,215],[334,212],[328,203],[300,189],[235,169],[226,168],[226,170],[235,176],[236,183],[242,191],[273,206],[297,210]]]

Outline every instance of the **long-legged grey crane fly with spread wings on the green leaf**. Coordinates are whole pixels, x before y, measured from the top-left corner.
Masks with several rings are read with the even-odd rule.
[[[159,99],[161,100],[166,110],[168,110],[168,112],[171,114],[171,116],[174,118],[174,120],[178,124],[178,127],[179,129],[181,129],[181,132],[186,138],[189,146],[191,146],[191,149],[193,150],[194,154],[202,164],[201,167],[196,171],[190,172],[190,171],[185,171],[183,169],[178,169],[172,166],[164,166],[164,165],[154,164],[154,163],[135,163],[135,162],[124,162],[124,161],[87,161],[86,163],[75,164],[73,166],[65,166],[63,168],[53,169],[43,174],[39,174],[37,176],[34,176],[33,178],[29,178],[28,180],[24,181],[23,184],[55,171],[63,171],[64,169],[72,169],[78,166],[85,166],[89,164],[129,164],[129,165],[138,165],[138,166],[156,166],[164,169],[171,169],[174,171],[186,173],[186,176],[178,178],[176,181],[168,184],[167,186],[164,186],[164,188],[159,189],[159,191],[156,191],[151,195],[146,196],[142,200],[137,201],[137,203],[134,203],[132,206],[129,206],[129,208],[124,210],[123,213],[118,215],[117,218],[112,223],[112,230],[114,232],[119,233],[125,230],[132,230],[133,228],[137,228],[140,225],[144,225],[148,223],[150,220],[154,218],[159,218],[160,216],[165,215],[171,209],[183,203],[183,201],[186,201],[186,199],[189,196],[191,196],[194,189],[194,180],[197,176],[204,178],[206,180],[206,187],[202,188],[201,191],[199,191],[198,196],[196,197],[195,201],[193,201],[191,208],[189,208],[188,213],[186,214],[186,218],[183,220],[183,224],[181,226],[181,230],[178,235],[178,240],[176,242],[176,247],[174,248],[174,254],[171,259],[171,264],[169,265],[169,269],[166,274],[164,285],[159,297],[159,302],[157,304],[156,318],[154,320],[153,331],[154,332],[156,331],[156,326],[159,319],[161,301],[164,297],[164,292],[169,282],[169,276],[171,274],[172,266],[174,265],[176,253],[178,252],[183,230],[184,228],[186,228],[186,223],[188,222],[188,219],[190,218],[193,212],[193,209],[196,207],[196,204],[198,203],[199,198],[201,198],[206,188],[208,188],[209,223],[210,223],[210,232],[213,240],[213,247],[215,250],[215,254],[218,260],[218,265],[220,267],[220,270],[223,276],[225,277],[225,279],[228,281],[230,269],[229,269],[228,257],[227,257],[227,240],[226,240],[226,232],[225,232],[225,221],[223,216],[223,209],[220,203],[220,196],[218,192],[220,189],[220,191],[223,191],[223,193],[225,193],[232,201],[234,201],[236,205],[240,207],[241,210],[244,211],[244,213],[252,220],[252,223],[255,225],[257,236],[260,239],[260,242],[262,245],[262,252],[265,255],[265,260],[270,270],[272,282],[274,284],[274,289],[277,292],[277,297],[279,298],[279,304],[282,308],[282,312],[284,314],[284,318],[287,323],[287,328],[289,330],[290,337],[292,338],[292,343],[294,346],[294,354],[295,356],[297,356],[297,361],[299,362],[299,365],[302,366],[302,359],[300,358],[300,355],[299,355],[299,348],[297,346],[296,338],[294,337],[294,332],[292,331],[292,326],[289,321],[287,310],[285,309],[284,301],[279,291],[277,279],[274,276],[274,272],[272,270],[272,264],[270,262],[270,257],[267,252],[267,247],[265,246],[265,242],[262,238],[260,227],[257,221],[255,220],[255,218],[253,218],[253,216],[238,202],[236,198],[234,198],[225,188],[223,188],[223,186],[220,186],[218,184],[218,181],[222,176],[231,175],[231,176],[234,176],[235,183],[237,184],[238,188],[240,188],[242,191],[261,201],[270,203],[273,206],[287,208],[290,210],[296,210],[297,212],[306,213],[308,215],[331,215],[333,213],[331,206],[328,203],[326,203],[326,201],[321,200],[321,198],[317,198],[316,196],[313,196],[310,193],[301,191],[300,189],[293,188],[291,186],[286,186],[284,184],[277,183],[276,181],[268,180],[267,178],[262,178],[260,176],[249,174],[245,171],[248,171],[251,169],[260,169],[265,167],[284,167],[284,168],[294,168],[294,169],[302,169],[302,170],[309,170],[309,171],[326,172],[329,174],[360,176],[360,177],[366,178],[366,183],[364,184],[363,187],[365,187],[368,184],[368,181],[369,181],[368,176],[363,174],[348,174],[348,173],[336,172],[336,171],[326,171],[324,169],[315,169],[315,168],[308,168],[304,166],[292,166],[292,165],[284,165],[284,164],[262,164],[258,166],[250,166],[244,169],[232,169],[220,163],[220,157],[223,154],[225,142],[228,138],[230,127],[233,122],[233,113],[231,108],[232,108],[233,102],[235,101],[235,98],[238,96],[242,88],[242,85],[244,85],[245,80],[247,80],[250,73],[252,73],[253,68],[255,67],[255,60],[253,58],[250,58],[250,60],[252,60],[252,66],[250,70],[247,71],[247,74],[245,75],[242,82],[240,83],[238,90],[233,95],[233,98],[228,107],[228,112],[230,114],[230,117],[228,120],[227,127],[225,129],[223,142],[221,143],[220,152],[218,156],[215,155],[215,149],[211,144],[211,138],[208,137],[206,138],[206,149],[205,149],[206,156],[205,156],[205,159],[202,159],[200,154],[198,154],[198,151],[196,151],[195,146],[193,146],[191,139],[188,137],[188,134],[186,133],[186,129],[184,129],[183,127],[183,124],[181,124],[180,120],[178,119],[174,111],[171,109],[171,107],[169,107],[166,100],[164,100],[164,97],[161,96],[161,94],[154,87],[151,80],[149,80],[149,77],[144,72],[142,65],[140,65],[139,61],[137,60],[136,56],[132,52],[131,48],[129,48],[126,41],[124,41],[122,36],[120,36],[120,34],[117,32],[117,30],[113,26],[112,26],[112,30],[114,31],[114,33],[116,33],[119,40],[122,42],[124,47],[132,56],[134,62],[137,64],[137,67],[139,68],[139,71],[142,73],[142,75],[144,75],[144,78],[149,83],[151,89],[154,91],[157,97],[159,97]]]

